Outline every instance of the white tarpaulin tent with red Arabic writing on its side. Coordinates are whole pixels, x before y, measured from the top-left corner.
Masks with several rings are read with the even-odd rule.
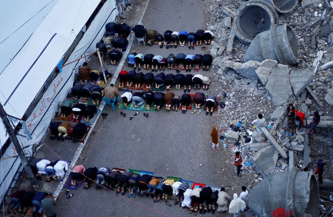
[[[0,91],[3,94],[0,93],[0,102],[4,105],[7,114],[13,117],[22,118],[29,109],[30,104],[35,100],[54,68],[62,61],[64,54],[85,26],[100,0],[58,0],[54,3],[38,27],[35,27],[35,31],[23,48],[10,60],[2,72],[0,70]],[[22,2],[22,4],[28,5],[30,1]],[[16,8],[13,7],[11,10]],[[106,1],[64,64],[92,53],[96,49],[96,43],[105,33],[105,24],[114,21],[117,14],[116,0]],[[2,55],[5,54],[2,52]],[[63,67],[43,93],[25,121],[32,136],[29,141],[22,139],[22,146],[29,147],[25,151],[31,153],[32,146],[44,137],[52,117],[58,110],[58,103],[66,98],[73,86],[74,75],[84,61],[83,58]],[[24,135],[25,132],[21,130],[19,134]],[[2,123],[0,123],[0,139],[3,145],[6,137]],[[12,146],[6,150],[8,156],[13,156],[15,153]],[[9,187],[19,163],[18,158],[12,158],[3,164],[1,171],[3,181],[0,187],[4,189]],[[3,193],[0,192],[2,196]]]

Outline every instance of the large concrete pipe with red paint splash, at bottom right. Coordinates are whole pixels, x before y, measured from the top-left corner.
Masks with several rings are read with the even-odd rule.
[[[319,216],[319,189],[313,172],[297,167],[264,178],[244,199],[260,217]]]

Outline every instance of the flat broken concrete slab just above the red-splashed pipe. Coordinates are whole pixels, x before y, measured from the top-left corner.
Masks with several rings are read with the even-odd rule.
[[[271,145],[259,150],[253,156],[250,155],[251,162],[264,177],[275,172],[278,157],[278,152]]]

